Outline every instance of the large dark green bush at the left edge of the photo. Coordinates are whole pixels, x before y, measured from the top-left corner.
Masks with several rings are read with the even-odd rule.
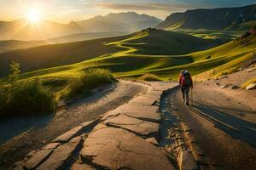
[[[0,89],[0,116],[49,113],[55,106],[55,96],[38,80],[14,82]]]

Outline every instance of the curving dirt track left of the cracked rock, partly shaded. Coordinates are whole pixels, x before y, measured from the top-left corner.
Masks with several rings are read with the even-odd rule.
[[[141,83],[121,81],[98,89],[96,95],[69,105],[55,115],[0,122],[0,169],[7,169],[29,151],[41,148],[81,122],[93,120],[123,105],[137,94],[145,93],[147,89]]]

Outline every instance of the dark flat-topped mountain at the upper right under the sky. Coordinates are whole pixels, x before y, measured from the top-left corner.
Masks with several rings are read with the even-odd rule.
[[[245,31],[253,26],[256,26],[256,4],[237,8],[206,8],[174,13],[157,28]]]

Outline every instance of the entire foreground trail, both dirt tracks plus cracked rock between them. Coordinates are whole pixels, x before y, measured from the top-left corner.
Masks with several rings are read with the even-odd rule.
[[[96,101],[68,106],[69,115],[58,111],[48,125],[61,125],[54,135],[47,136],[51,131],[44,127],[32,129],[43,133],[26,132],[25,141],[30,135],[38,141],[19,145],[17,152],[11,146],[22,144],[20,135],[2,144],[7,154],[1,152],[1,161],[10,161],[1,168],[253,169],[256,93],[221,88],[219,81],[195,82],[193,107],[183,104],[177,82],[121,81],[100,90],[104,95]]]

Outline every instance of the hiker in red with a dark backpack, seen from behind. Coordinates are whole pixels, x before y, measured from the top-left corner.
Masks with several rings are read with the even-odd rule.
[[[189,71],[181,71],[179,77],[179,86],[181,87],[183,94],[184,104],[189,105],[189,88],[193,88],[193,81]]]

